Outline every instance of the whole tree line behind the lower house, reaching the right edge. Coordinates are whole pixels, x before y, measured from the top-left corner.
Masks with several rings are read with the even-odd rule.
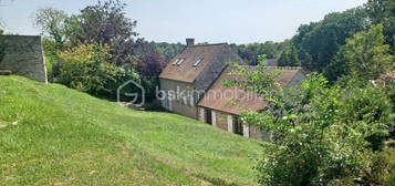
[[[310,71],[322,72],[331,82],[352,71],[351,63],[364,61],[366,65],[376,68],[376,72],[366,74],[366,78],[375,79],[393,68],[394,10],[394,1],[368,0],[362,7],[330,13],[321,21],[302,24],[291,40],[232,46],[250,64],[257,64],[259,54],[267,54],[269,59],[278,59],[279,65],[302,65]],[[366,33],[371,38],[361,40],[364,37],[361,32],[372,28],[373,31]],[[367,48],[358,48],[362,44]]]

